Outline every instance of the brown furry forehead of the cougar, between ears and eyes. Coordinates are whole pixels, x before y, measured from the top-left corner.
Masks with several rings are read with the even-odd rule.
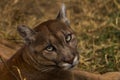
[[[37,32],[36,45],[59,42],[62,44],[66,34],[73,33],[71,28],[60,21],[49,20],[34,29]],[[41,45],[40,45],[41,46]]]

